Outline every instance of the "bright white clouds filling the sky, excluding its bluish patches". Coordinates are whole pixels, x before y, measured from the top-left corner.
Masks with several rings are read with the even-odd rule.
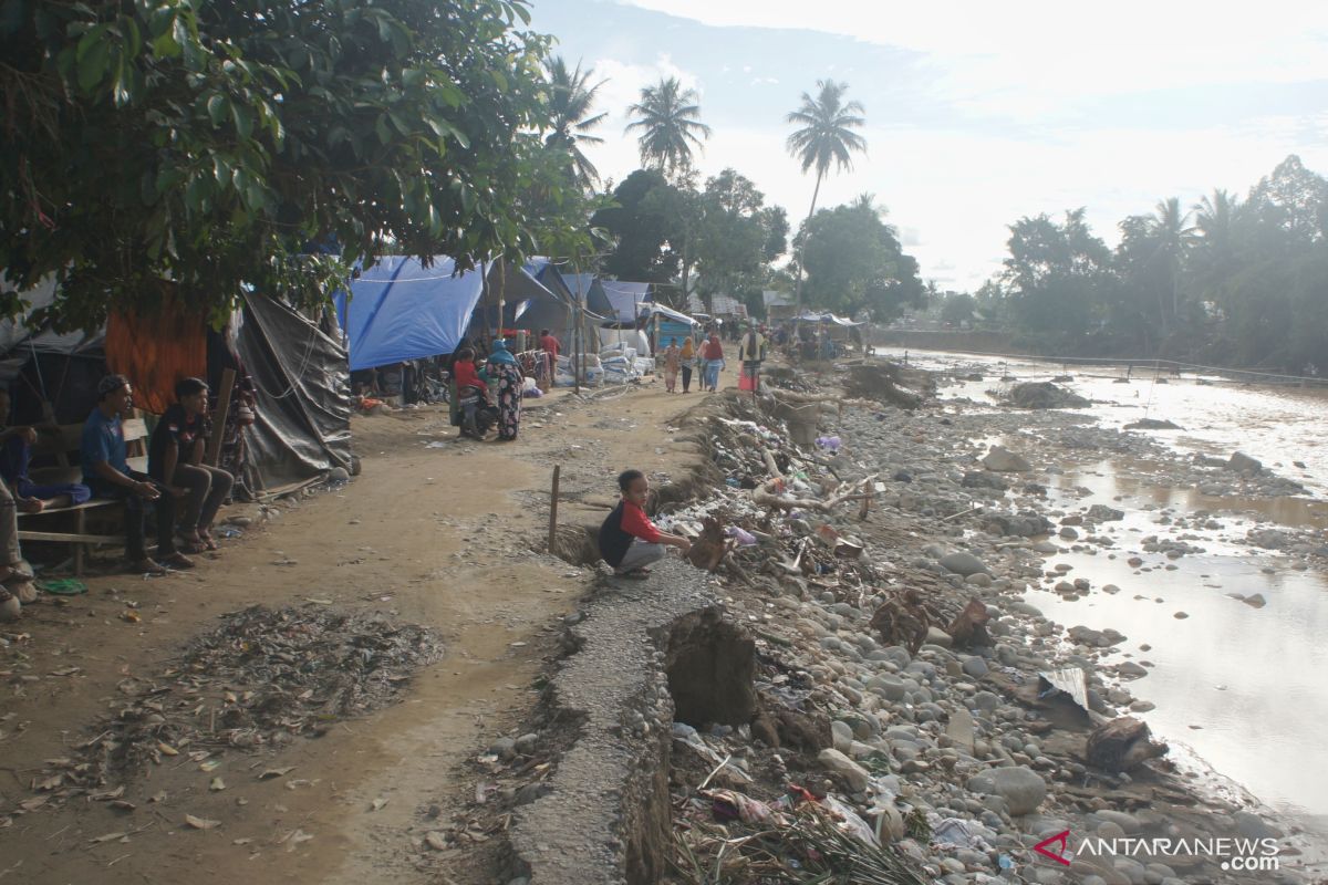
[[[960,15],[956,4],[899,9],[866,0],[629,3],[713,25],[799,28],[924,53],[920,64],[959,113],[932,129],[871,125],[865,133],[870,154],[855,159],[853,174],[831,175],[818,206],[875,194],[890,210],[887,220],[903,228],[923,277],[960,289],[977,288],[999,269],[1007,226],[1023,215],[1060,215],[1086,206],[1096,232],[1114,244],[1116,224],[1151,211],[1159,199],[1179,196],[1189,206],[1212,187],[1244,192],[1289,153],[1312,169],[1328,167],[1325,113],[1173,129],[1084,119],[1085,100],[1092,98],[1328,78],[1328,5],[1122,0],[1089,7],[1020,0],[961,4]],[[619,138],[625,125],[619,109],[661,74],[695,88],[701,84],[667,54],[653,64],[603,58],[595,66],[615,80],[600,106],[618,115],[604,126],[607,143],[592,158],[606,175],[622,179],[636,169],[637,158],[635,141]],[[827,76],[834,66],[827,68],[797,74]],[[854,86],[870,97],[870,85]],[[869,115],[875,119],[884,114]],[[1066,126],[1065,119],[1077,123]],[[714,135],[699,158],[703,174],[738,169],[770,202],[788,208],[795,228],[813,179],[785,151],[784,127],[708,122]],[[1020,137],[1005,134],[1012,129]]]

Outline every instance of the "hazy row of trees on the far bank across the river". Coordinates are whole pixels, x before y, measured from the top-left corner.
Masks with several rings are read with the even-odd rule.
[[[1191,212],[1126,218],[1114,253],[1082,210],[1023,218],[980,295],[1048,352],[1328,370],[1328,180],[1292,155],[1243,202],[1215,190]]]

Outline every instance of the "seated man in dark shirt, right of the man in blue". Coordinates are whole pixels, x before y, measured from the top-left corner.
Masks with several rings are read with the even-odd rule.
[[[203,463],[211,435],[207,419],[207,385],[185,378],[175,385],[175,405],[166,410],[147,444],[147,474],[171,495],[183,499],[177,531],[186,553],[215,551],[212,520],[235,478]]]

